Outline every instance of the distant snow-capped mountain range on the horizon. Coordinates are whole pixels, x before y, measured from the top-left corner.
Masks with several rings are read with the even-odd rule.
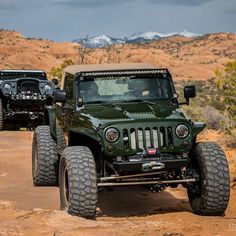
[[[179,35],[183,37],[193,38],[201,36],[201,34],[195,34],[184,30],[182,32],[172,32],[172,33],[158,33],[153,31],[148,32],[138,32],[129,37],[113,38],[107,35],[99,35],[96,37],[87,37],[82,39],[75,39],[73,42],[83,43],[86,47],[90,48],[101,48],[106,45],[117,44],[117,43],[147,43],[152,40],[158,40],[161,38],[171,37],[174,35]]]

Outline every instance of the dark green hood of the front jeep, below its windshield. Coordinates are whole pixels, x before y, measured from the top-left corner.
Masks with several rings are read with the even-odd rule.
[[[160,119],[184,118],[177,106],[170,102],[90,105],[86,106],[84,115],[89,117],[92,123],[102,125],[127,121],[155,122]]]

